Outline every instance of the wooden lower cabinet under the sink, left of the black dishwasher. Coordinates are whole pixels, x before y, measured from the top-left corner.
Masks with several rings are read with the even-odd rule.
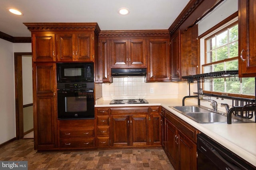
[[[163,148],[175,170],[196,170],[196,135],[197,129],[172,114],[162,109],[165,113],[165,124],[162,124]],[[164,126],[164,127],[163,127]]]

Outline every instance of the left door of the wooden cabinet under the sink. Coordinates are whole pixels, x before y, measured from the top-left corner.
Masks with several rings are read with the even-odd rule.
[[[177,143],[176,127],[166,120],[166,154],[172,163],[174,169],[178,165],[178,143]]]

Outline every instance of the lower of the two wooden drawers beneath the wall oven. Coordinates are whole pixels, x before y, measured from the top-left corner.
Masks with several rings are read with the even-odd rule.
[[[61,139],[60,147],[68,148],[85,148],[93,147],[94,138],[85,138],[85,139]]]

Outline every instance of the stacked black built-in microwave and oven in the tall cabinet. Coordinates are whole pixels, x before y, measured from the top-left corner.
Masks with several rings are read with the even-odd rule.
[[[57,63],[58,119],[94,119],[93,63]]]

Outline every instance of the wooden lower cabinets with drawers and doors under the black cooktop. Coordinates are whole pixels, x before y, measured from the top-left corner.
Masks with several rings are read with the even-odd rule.
[[[160,106],[96,107],[96,147],[162,146]]]

